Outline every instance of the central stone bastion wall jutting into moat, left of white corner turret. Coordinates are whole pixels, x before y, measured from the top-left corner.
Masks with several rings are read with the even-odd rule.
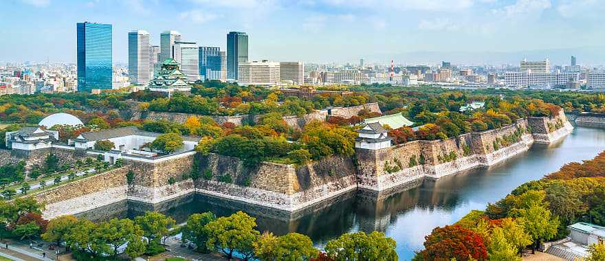
[[[248,167],[233,157],[211,154],[199,158],[201,178],[195,191],[250,204],[295,211],[356,188],[355,167],[347,157],[330,157],[295,167],[262,162]],[[207,180],[204,172],[210,170]],[[232,183],[219,181],[229,175]]]

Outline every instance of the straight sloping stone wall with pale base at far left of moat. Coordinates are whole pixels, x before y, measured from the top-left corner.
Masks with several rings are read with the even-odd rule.
[[[109,170],[37,192],[31,197],[46,204],[43,216],[48,219],[85,212],[126,199],[128,170],[128,166]]]

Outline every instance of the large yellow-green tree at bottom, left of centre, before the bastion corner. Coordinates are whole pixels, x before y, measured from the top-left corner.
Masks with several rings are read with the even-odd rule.
[[[237,251],[243,260],[250,260],[254,257],[252,244],[260,234],[254,229],[255,220],[256,218],[239,211],[208,223],[208,249],[220,251],[229,259],[233,258],[233,253]]]

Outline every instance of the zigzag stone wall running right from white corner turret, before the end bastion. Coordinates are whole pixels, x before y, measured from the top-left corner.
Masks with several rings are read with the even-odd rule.
[[[382,191],[423,177],[437,179],[476,166],[492,165],[529,149],[533,139],[529,133],[525,133],[516,144],[494,150],[496,139],[503,139],[518,130],[527,130],[526,120],[518,120],[515,124],[496,130],[468,133],[450,139],[410,141],[380,150],[356,149],[358,186]],[[451,159],[452,152],[455,159]]]

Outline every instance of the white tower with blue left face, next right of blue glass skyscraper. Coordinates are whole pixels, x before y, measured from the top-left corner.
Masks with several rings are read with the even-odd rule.
[[[128,33],[128,76],[132,84],[145,85],[151,81],[150,42],[147,31]]]

